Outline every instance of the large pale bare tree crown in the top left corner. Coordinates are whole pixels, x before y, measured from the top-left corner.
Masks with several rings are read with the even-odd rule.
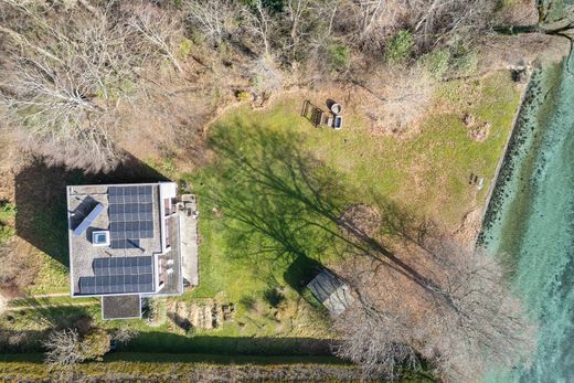
[[[113,164],[114,109],[128,96],[140,61],[132,34],[104,13],[74,14],[64,24],[49,22],[38,8],[17,9],[40,33],[32,44],[25,29],[0,31],[15,43],[4,46],[0,105],[36,142],[60,148],[61,158],[79,151],[95,168]]]

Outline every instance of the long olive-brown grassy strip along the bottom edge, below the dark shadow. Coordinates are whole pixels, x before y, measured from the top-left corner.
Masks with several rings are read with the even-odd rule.
[[[0,355],[0,380],[50,379],[42,354]],[[104,362],[78,364],[74,381],[369,381],[357,366],[328,357],[222,357],[210,354],[113,353]],[[380,379],[373,379],[380,381]],[[408,374],[400,382],[433,382],[425,373]]]

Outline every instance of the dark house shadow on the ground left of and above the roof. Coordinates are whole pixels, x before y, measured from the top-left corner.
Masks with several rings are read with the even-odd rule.
[[[84,173],[49,166],[38,159],[15,175],[17,234],[68,267],[66,185],[139,183],[167,180],[134,156],[126,153],[108,173]]]

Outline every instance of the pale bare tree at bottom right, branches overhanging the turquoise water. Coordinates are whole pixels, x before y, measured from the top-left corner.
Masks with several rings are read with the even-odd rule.
[[[450,241],[444,241],[433,256],[443,294],[453,302],[436,306],[427,321],[429,344],[443,347],[427,345],[423,353],[437,362],[440,373],[467,381],[492,365],[511,369],[528,360],[535,327],[512,295],[501,265],[482,248]]]

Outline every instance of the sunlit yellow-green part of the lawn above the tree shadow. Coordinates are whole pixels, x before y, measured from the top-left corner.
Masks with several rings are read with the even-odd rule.
[[[428,116],[422,132],[411,139],[373,138],[366,123],[352,114],[346,115],[346,126],[340,131],[313,129],[298,114],[300,99],[287,99],[264,113],[241,107],[221,118],[211,131],[256,126],[287,132],[297,138],[301,150],[311,152],[336,170],[341,183],[359,190],[357,200],[391,199],[451,226],[459,223],[470,206],[480,204],[486,198],[488,182],[518,108],[520,92],[507,72],[497,72],[480,82],[445,83],[436,96],[456,113],[447,110]],[[492,126],[485,142],[468,138],[461,121],[464,113],[472,114],[478,123]],[[242,141],[242,146],[244,151],[249,150],[248,141]],[[468,187],[470,173],[486,178],[487,183],[478,193]],[[222,230],[208,227],[210,223],[205,221],[202,224],[210,232]]]

